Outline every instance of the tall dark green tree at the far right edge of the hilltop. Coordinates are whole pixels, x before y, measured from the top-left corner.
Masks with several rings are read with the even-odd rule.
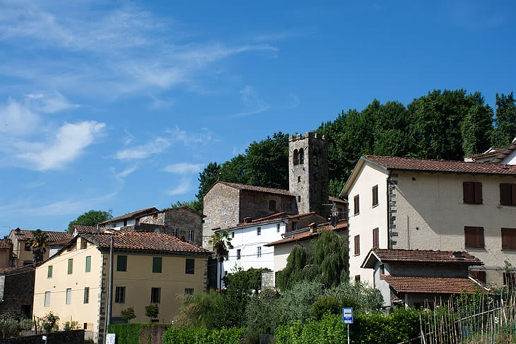
[[[496,147],[505,147],[516,136],[516,100],[514,93],[508,95],[496,93],[496,118],[492,143]]]

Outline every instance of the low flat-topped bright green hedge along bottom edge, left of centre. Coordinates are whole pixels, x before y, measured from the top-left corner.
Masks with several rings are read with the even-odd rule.
[[[199,327],[173,326],[163,333],[163,344],[238,344],[242,328],[208,330]]]

